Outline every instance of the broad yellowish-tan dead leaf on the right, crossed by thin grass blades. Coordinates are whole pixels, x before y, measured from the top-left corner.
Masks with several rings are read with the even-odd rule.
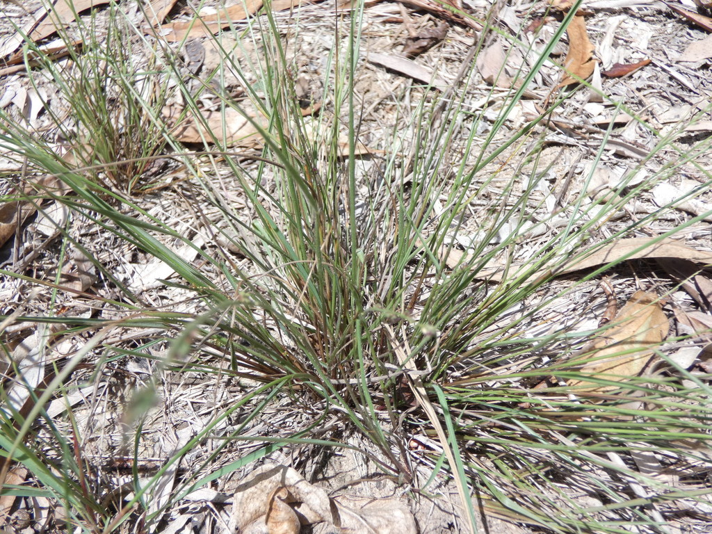
[[[637,291],[616,315],[613,325],[587,349],[589,362],[580,371],[583,375],[613,382],[640,376],[668,331],[668,320],[658,295]],[[576,393],[602,393],[617,388],[578,379],[567,382],[575,387]]]

